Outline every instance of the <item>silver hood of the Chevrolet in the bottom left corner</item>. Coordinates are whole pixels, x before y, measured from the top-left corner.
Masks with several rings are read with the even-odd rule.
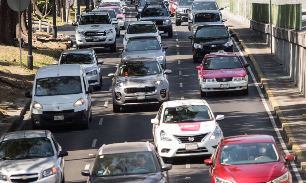
[[[0,161],[0,172],[4,174],[39,174],[54,166],[55,156],[27,160]]]

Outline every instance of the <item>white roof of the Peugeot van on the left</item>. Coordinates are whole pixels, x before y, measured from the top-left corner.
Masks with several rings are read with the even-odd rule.
[[[36,73],[36,79],[61,76],[80,76],[82,67],[80,64],[62,64],[40,67]]]

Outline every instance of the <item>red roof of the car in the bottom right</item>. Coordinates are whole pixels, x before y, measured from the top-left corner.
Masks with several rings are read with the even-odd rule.
[[[275,142],[270,135],[240,135],[226,137],[223,140],[223,145],[244,144],[244,143],[271,143]]]

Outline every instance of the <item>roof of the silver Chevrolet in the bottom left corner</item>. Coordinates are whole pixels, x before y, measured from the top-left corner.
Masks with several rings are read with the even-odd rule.
[[[19,138],[44,138],[47,137],[45,130],[26,130],[6,133],[2,136],[1,141],[19,139]]]

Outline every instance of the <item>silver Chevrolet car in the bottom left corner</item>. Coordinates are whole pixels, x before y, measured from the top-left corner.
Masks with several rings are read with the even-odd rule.
[[[16,131],[0,139],[0,182],[64,182],[68,152],[47,130]]]

